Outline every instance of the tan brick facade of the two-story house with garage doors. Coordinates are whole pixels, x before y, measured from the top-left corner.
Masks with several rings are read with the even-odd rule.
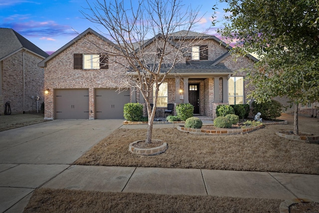
[[[50,58],[50,60],[47,61],[47,64],[45,66],[45,76],[44,76],[44,88],[47,88],[49,90],[49,93],[45,95],[45,119],[54,119],[54,90],[55,89],[71,89],[71,88],[86,88],[89,89],[89,119],[95,119],[95,96],[94,92],[96,88],[117,88],[122,87],[122,80],[125,80],[125,71],[127,70],[125,67],[121,66],[119,63],[116,62],[123,62],[125,64],[125,61],[120,61],[121,58],[117,58],[115,56],[109,57],[109,68],[108,69],[99,69],[99,70],[82,70],[82,69],[74,69],[73,68],[73,54],[74,53],[88,53],[88,54],[99,54],[100,48],[92,45],[92,42],[98,43],[99,45],[103,45],[104,51],[108,52],[109,50],[114,50],[113,47],[102,41],[100,38],[98,38],[95,34],[87,33],[84,35],[84,37],[79,38],[76,40],[75,43],[72,43],[67,48],[63,49],[59,54],[56,56]],[[220,43],[214,41],[214,40],[203,40],[198,45],[208,45],[208,60],[214,61],[217,58],[219,58],[221,55],[226,53],[228,49],[224,46],[221,46]],[[175,54],[174,47],[168,46],[170,50],[170,54]],[[156,50],[156,45],[150,44],[147,48],[145,48],[145,53],[148,54],[150,57],[147,58],[148,60],[152,61],[154,58],[152,58],[152,55],[154,56],[154,53]],[[170,58],[167,56],[166,60],[169,62]],[[232,70],[237,71],[240,68],[244,67],[251,67],[253,66],[253,61],[251,59],[248,59],[246,57],[237,58],[237,60],[234,60],[233,56],[228,56],[223,61],[224,65]],[[178,60],[178,63],[186,63],[186,60],[184,57],[180,57]],[[121,75],[120,73],[123,73]],[[201,73],[199,73],[201,74]],[[227,80],[225,79],[226,75],[217,74],[216,76],[213,76],[212,74],[209,74],[211,77],[200,77],[196,75],[187,76],[187,74],[184,74],[184,76],[178,76],[171,74],[167,76],[165,79],[165,82],[168,84],[168,103],[174,103],[176,104],[176,95],[180,95],[179,92],[177,94],[176,91],[179,91],[179,89],[182,90],[181,95],[185,98],[185,96],[188,94],[185,94],[184,88],[188,88],[188,85],[190,83],[196,83],[199,85],[199,113],[201,115],[206,116],[214,116],[215,110],[214,107],[216,105],[216,100],[214,100],[214,78],[218,78],[218,88],[219,88],[219,94],[218,102],[225,102],[227,104],[228,100],[223,100],[224,92],[223,91],[223,84]],[[236,76],[245,76],[245,73],[236,73]],[[177,82],[177,85],[175,84],[176,78],[179,78],[179,85]],[[185,78],[188,80],[186,81]],[[227,77],[226,77],[227,79]],[[185,83],[186,82],[186,83]],[[188,82],[188,83],[187,83]],[[246,83],[245,83],[246,84]],[[185,87],[184,87],[185,86]],[[176,88],[177,87],[177,88]],[[135,88],[131,89],[131,101],[134,100],[134,102],[144,103],[143,96],[140,94],[140,91]],[[187,89],[188,90],[188,89]],[[188,92],[188,91],[186,91]],[[248,90],[245,89],[245,97]],[[134,96],[134,97],[133,97]],[[150,97],[152,97],[153,94],[150,94]],[[151,98],[151,102],[153,102]],[[177,102],[184,103],[186,102],[184,99],[177,99]],[[223,103],[223,104],[225,104]],[[145,104],[144,104],[145,105]],[[165,110],[165,107],[158,107],[157,108],[157,117],[162,116],[163,112]]]

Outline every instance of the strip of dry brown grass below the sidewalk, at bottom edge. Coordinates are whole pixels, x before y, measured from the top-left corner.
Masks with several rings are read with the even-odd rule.
[[[278,213],[282,200],[38,189],[24,213]]]

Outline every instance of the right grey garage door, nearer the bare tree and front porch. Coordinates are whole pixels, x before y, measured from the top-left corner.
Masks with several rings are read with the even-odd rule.
[[[124,104],[130,103],[130,91],[118,92],[116,89],[95,90],[96,119],[124,119]]]

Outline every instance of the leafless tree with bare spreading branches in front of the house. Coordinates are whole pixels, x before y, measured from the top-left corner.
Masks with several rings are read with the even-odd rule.
[[[87,3],[89,7],[82,14],[104,27],[104,34],[114,43],[114,49],[108,49],[108,56],[115,56],[116,63],[126,68],[125,72],[118,73],[125,75],[122,86],[136,88],[145,99],[149,118],[146,143],[151,143],[160,85],[176,63],[185,63],[191,46],[200,38],[189,35],[200,20],[197,17],[199,8],[184,7],[181,0]],[[103,52],[103,46],[95,45]]]

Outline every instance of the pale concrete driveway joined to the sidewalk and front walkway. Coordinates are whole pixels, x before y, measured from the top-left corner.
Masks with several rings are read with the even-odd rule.
[[[200,169],[80,166],[72,163],[122,120],[54,120],[0,132],[0,212],[23,212],[36,188],[319,202],[319,176]],[[172,128],[174,124],[155,125]],[[72,137],[70,137],[72,136]]]

